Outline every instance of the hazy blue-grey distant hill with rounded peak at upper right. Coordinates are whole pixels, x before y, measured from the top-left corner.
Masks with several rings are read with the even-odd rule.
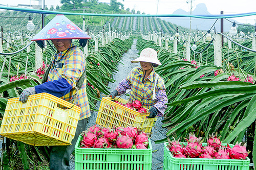
[[[178,9],[174,11],[173,14],[189,15],[190,11],[187,12],[182,9]],[[192,15],[210,15],[210,13],[208,12],[206,5],[202,3],[196,6],[196,8],[192,11]],[[178,26],[185,27],[188,29],[190,27],[190,17],[163,17],[161,19],[175,23]],[[233,19],[229,19],[229,20],[232,22],[236,21]],[[191,29],[196,30],[198,28],[198,30],[209,30],[215,21],[216,19],[191,18]],[[218,19],[218,21],[215,24],[215,28],[217,32],[220,32],[220,23],[221,23],[221,20]],[[224,19],[224,32],[228,32],[230,27],[232,27],[232,23]]]

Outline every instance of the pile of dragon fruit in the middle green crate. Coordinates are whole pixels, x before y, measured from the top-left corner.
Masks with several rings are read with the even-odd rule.
[[[81,136],[81,148],[148,148],[148,134],[136,127],[103,128],[94,125],[83,131]]]

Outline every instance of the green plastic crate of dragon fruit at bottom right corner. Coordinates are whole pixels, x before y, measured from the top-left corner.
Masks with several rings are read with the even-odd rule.
[[[250,159],[175,158],[164,143],[164,170],[248,170]],[[187,143],[184,143],[185,145]],[[207,145],[207,143],[203,143]],[[227,145],[223,143],[223,145]],[[229,144],[232,148],[234,145]]]

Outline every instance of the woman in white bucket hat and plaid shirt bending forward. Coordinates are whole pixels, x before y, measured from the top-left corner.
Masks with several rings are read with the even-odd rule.
[[[165,105],[167,96],[164,80],[154,70],[154,67],[162,65],[157,59],[157,52],[152,48],[145,48],[141,51],[140,57],[131,62],[140,62],[141,67],[133,68],[110,95],[114,99],[117,95],[125,93],[127,89],[131,89],[129,102],[139,100],[143,107],[149,109],[148,118],[163,116],[167,107]]]

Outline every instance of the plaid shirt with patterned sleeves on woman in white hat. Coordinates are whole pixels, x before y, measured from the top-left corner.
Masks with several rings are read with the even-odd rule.
[[[163,116],[166,109],[167,96],[165,92],[164,80],[159,76],[156,85],[156,100],[153,100],[153,89],[155,85],[156,72],[153,68],[150,75],[143,79],[143,69],[141,67],[135,67],[129,73],[129,75],[122,80],[116,87],[118,95],[125,93],[126,89],[131,89],[131,95],[129,102],[139,100],[142,106],[150,109],[152,106],[158,110],[158,116]]]

